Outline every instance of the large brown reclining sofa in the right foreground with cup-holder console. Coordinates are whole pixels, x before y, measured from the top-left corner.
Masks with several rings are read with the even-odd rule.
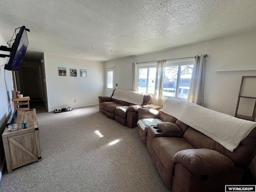
[[[147,108],[138,109],[138,119],[159,118],[163,121],[145,130],[138,125],[138,133],[168,188],[172,192],[219,192],[225,191],[225,184],[240,184],[256,154],[256,123],[250,122],[249,134],[231,152],[192,126],[163,112],[166,102],[172,102],[172,99],[165,100],[155,114]],[[180,110],[186,112],[187,109]],[[199,120],[201,116],[198,115]],[[222,117],[220,113],[217,115]],[[220,121],[216,116],[210,118],[216,124]],[[249,124],[245,120],[239,121]]]

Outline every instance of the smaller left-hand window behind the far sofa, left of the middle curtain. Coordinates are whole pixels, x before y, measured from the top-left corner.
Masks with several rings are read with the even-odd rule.
[[[139,66],[138,91],[154,94],[156,80],[156,66]]]

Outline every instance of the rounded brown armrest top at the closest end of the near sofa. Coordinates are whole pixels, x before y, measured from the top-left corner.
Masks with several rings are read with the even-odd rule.
[[[177,152],[173,163],[180,163],[196,175],[216,174],[234,169],[234,162],[211,149],[186,149]]]

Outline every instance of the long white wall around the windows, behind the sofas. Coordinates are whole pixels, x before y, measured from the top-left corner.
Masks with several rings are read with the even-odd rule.
[[[209,56],[206,57],[204,106],[234,116],[242,76],[256,76],[255,53],[256,33],[254,32],[108,61],[105,63],[105,67],[116,66],[118,88],[132,90],[132,62],[208,54]],[[216,70],[237,71],[216,72]]]

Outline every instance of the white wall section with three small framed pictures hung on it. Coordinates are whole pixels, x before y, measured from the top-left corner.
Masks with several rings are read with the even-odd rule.
[[[97,104],[104,95],[103,62],[45,53],[44,64],[49,111]],[[67,76],[58,75],[59,67],[66,68]],[[77,69],[77,77],[70,76],[70,68]],[[80,69],[86,69],[86,77],[80,77]]]

